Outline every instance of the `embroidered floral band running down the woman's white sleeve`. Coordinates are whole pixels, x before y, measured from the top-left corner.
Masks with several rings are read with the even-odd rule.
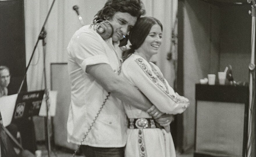
[[[163,77],[163,74],[160,71],[157,71],[152,65],[151,65],[152,70],[150,70],[150,68],[144,63],[143,59],[139,57],[135,59],[135,62],[141,67],[141,69],[150,78],[150,80],[152,80],[154,84],[156,84],[157,87],[159,87],[167,96],[173,99],[173,101],[175,101],[176,103],[182,103],[182,102],[188,101],[187,98],[177,97],[175,94],[171,95],[169,93],[168,85]],[[154,75],[152,73],[154,73]],[[165,87],[163,87],[163,85],[161,85],[161,83],[158,80],[160,80]]]

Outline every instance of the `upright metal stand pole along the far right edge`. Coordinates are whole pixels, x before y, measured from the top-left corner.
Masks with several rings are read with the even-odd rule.
[[[248,3],[252,2],[252,11],[249,14],[252,16],[252,31],[251,31],[251,61],[249,64],[249,124],[248,124],[248,143],[246,156],[255,156],[255,142],[256,142],[256,95],[255,95],[255,18],[256,18],[256,1],[247,0]]]

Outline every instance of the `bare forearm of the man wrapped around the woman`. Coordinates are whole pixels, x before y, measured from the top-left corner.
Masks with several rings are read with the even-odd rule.
[[[128,80],[118,76],[113,72],[109,64],[88,65],[86,72],[93,76],[97,83],[119,98],[121,101],[129,103],[139,109],[147,111],[152,107],[152,103],[136,87],[131,85]]]

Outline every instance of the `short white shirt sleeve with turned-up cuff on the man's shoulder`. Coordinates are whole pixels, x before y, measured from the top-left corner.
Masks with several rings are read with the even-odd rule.
[[[86,70],[87,65],[109,64],[103,42],[104,40],[92,31],[77,32],[68,45],[68,53],[83,71]]]

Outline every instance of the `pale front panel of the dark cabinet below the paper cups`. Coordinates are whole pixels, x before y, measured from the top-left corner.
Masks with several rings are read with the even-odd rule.
[[[244,103],[197,101],[197,151],[242,156]]]

